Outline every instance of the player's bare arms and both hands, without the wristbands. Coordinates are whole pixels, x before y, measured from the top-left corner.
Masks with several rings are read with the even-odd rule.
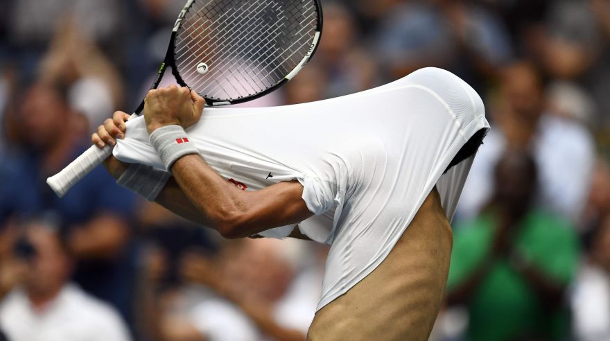
[[[202,107],[203,98],[186,88],[150,91],[144,110],[149,132],[176,123],[192,125],[199,120]],[[171,116],[176,113],[182,114],[182,121]],[[125,118],[115,114],[94,134],[94,143],[101,147],[104,143],[114,144],[112,137],[122,138]],[[126,169],[125,164],[113,157],[105,164],[114,177]],[[156,201],[184,218],[218,230],[227,238],[252,236],[312,216],[302,200],[303,186],[299,182],[281,182],[261,191],[241,191],[220,177],[199,155],[178,159],[171,172],[173,180]]]

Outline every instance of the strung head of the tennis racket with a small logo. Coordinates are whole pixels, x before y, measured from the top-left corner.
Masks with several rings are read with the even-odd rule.
[[[313,1],[195,0],[177,32],[177,72],[206,98],[259,94],[307,55],[318,17]]]

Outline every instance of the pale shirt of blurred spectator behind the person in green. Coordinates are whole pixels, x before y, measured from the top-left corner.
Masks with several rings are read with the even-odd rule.
[[[581,218],[595,164],[591,135],[579,123],[545,114],[530,146],[539,168],[539,202],[573,222]],[[504,135],[492,130],[464,185],[460,218],[477,215],[494,191],[494,167],[506,150]]]

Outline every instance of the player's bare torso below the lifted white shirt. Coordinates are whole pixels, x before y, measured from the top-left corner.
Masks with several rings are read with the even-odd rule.
[[[381,265],[315,314],[308,340],[428,340],[444,297],[452,243],[433,189]]]

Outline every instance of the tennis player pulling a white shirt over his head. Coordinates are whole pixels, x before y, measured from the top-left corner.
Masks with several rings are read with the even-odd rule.
[[[428,340],[449,221],[489,130],[476,92],[427,68],[317,103],[203,107],[151,90],[143,119],[116,112],[92,140],[118,141],[105,165],[119,184],[227,238],[330,244],[309,340]]]

